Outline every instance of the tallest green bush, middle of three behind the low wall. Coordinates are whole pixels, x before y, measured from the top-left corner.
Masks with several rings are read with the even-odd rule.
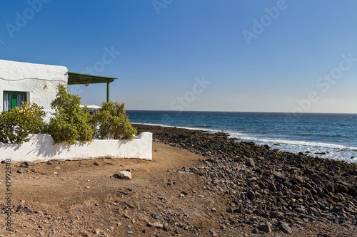
[[[67,92],[65,85],[58,86],[56,99],[51,102],[52,114],[49,122],[49,134],[54,139],[54,144],[68,142],[76,144],[76,140],[85,143],[93,138],[93,128],[89,125],[91,115],[81,110],[81,98]]]

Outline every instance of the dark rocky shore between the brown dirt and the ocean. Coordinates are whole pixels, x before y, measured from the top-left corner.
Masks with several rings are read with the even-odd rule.
[[[346,228],[357,235],[357,165],[306,154],[279,152],[225,133],[175,127],[135,125],[153,132],[154,140],[200,154],[197,167],[182,167],[206,177],[206,185],[231,196],[228,225],[251,227],[252,233],[292,233],[306,225]],[[214,211],[214,210],[213,210]],[[224,224],[222,223],[222,228]],[[317,236],[345,236],[331,227]]]

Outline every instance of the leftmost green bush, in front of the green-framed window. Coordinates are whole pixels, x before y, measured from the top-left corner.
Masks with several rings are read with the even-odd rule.
[[[1,112],[0,142],[21,144],[29,141],[29,134],[46,132],[45,114],[44,107],[30,102]]]

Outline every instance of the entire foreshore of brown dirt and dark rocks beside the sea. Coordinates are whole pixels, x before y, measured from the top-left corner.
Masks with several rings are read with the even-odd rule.
[[[154,132],[151,161],[12,164],[13,231],[0,228],[0,235],[357,235],[356,164],[236,142],[222,132],[137,127]],[[132,179],[116,179],[119,171]],[[8,214],[3,207],[1,218]]]

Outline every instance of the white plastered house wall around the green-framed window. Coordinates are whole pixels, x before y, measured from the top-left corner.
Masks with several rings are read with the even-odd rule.
[[[68,70],[64,66],[0,60],[0,112],[4,110],[3,91],[21,91],[27,93],[28,102],[44,107],[48,120],[57,85],[67,82]]]

